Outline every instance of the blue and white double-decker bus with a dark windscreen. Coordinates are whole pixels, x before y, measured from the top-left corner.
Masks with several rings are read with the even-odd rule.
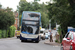
[[[41,13],[32,11],[23,11],[21,19],[20,40],[35,41],[39,43],[41,25]]]

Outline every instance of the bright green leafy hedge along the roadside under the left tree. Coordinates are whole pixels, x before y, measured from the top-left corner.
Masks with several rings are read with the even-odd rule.
[[[15,36],[15,26],[11,26],[7,30],[0,30],[0,38],[14,37]]]

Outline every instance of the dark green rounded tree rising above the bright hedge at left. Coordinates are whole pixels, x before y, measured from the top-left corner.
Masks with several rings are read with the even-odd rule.
[[[9,28],[14,24],[14,15],[10,8],[0,9],[0,29]]]

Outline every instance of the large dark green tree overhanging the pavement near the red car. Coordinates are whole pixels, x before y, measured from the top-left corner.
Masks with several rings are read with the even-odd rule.
[[[53,0],[53,3],[49,3],[48,15],[49,19],[54,19],[61,26],[62,35],[67,32],[68,26],[74,26],[74,11],[68,0]]]

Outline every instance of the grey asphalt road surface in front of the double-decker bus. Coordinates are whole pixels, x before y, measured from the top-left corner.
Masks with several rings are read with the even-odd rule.
[[[16,37],[0,39],[0,50],[60,50],[60,46],[44,44],[45,40],[39,43],[21,42]]]

